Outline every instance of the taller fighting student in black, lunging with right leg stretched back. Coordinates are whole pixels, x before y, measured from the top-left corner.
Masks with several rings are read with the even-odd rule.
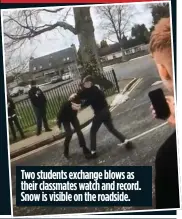
[[[78,96],[81,100],[85,101],[85,105],[91,105],[95,114],[90,130],[91,154],[92,158],[95,158],[97,156],[96,134],[102,123],[116,138],[120,140],[121,143],[118,145],[128,146],[129,141],[125,138],[123,134],[121,134],[114,128],[111,113],[109,111],[109,106],[105,98],[104,92],[100,90],[97,86],[95,86],[92,81],[93,78],[91,76],[87,76],[82,80],[83,89],[78,91]]]

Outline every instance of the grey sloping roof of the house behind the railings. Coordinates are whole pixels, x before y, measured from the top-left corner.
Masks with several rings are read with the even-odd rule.
[[[75,60],[75,50],[73,47],[70,47],[38,58],[31,58],[29,61],[29,71],[37,72],[56,68],[66,63],[74,62]]]

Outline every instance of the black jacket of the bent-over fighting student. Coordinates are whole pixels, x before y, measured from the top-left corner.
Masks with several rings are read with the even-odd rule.
[[[61,108],[57,115],[57,125],[61,127],[62,122],[71,122],[77,116],[77,111],[71,107],[71,102],[66,101],[61,105]]]

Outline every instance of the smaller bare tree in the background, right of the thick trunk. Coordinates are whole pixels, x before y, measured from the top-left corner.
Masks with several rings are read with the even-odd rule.
[[[115,42],[111,37],[116,37],[124,58],[125,34],[131,30],[131,20],[136,13],[135,7],[132,5],[107,5],[97,7],[96,10],[102,19],[101,26],[107,32],[107,38]]]

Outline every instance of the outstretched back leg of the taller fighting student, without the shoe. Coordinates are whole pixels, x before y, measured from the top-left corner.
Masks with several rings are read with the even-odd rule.
[[[111,118],[111,114],[110,112],[108,112],[105,116],[104,119],[104,125],[106,126],[106,128],[109,130],[109,132],[111,132],[116,138],[118,138],[121,142],[125,141],[125,136],[123,134],[121,134],[120,132],[118,132],[112,123],[112,118]]]

